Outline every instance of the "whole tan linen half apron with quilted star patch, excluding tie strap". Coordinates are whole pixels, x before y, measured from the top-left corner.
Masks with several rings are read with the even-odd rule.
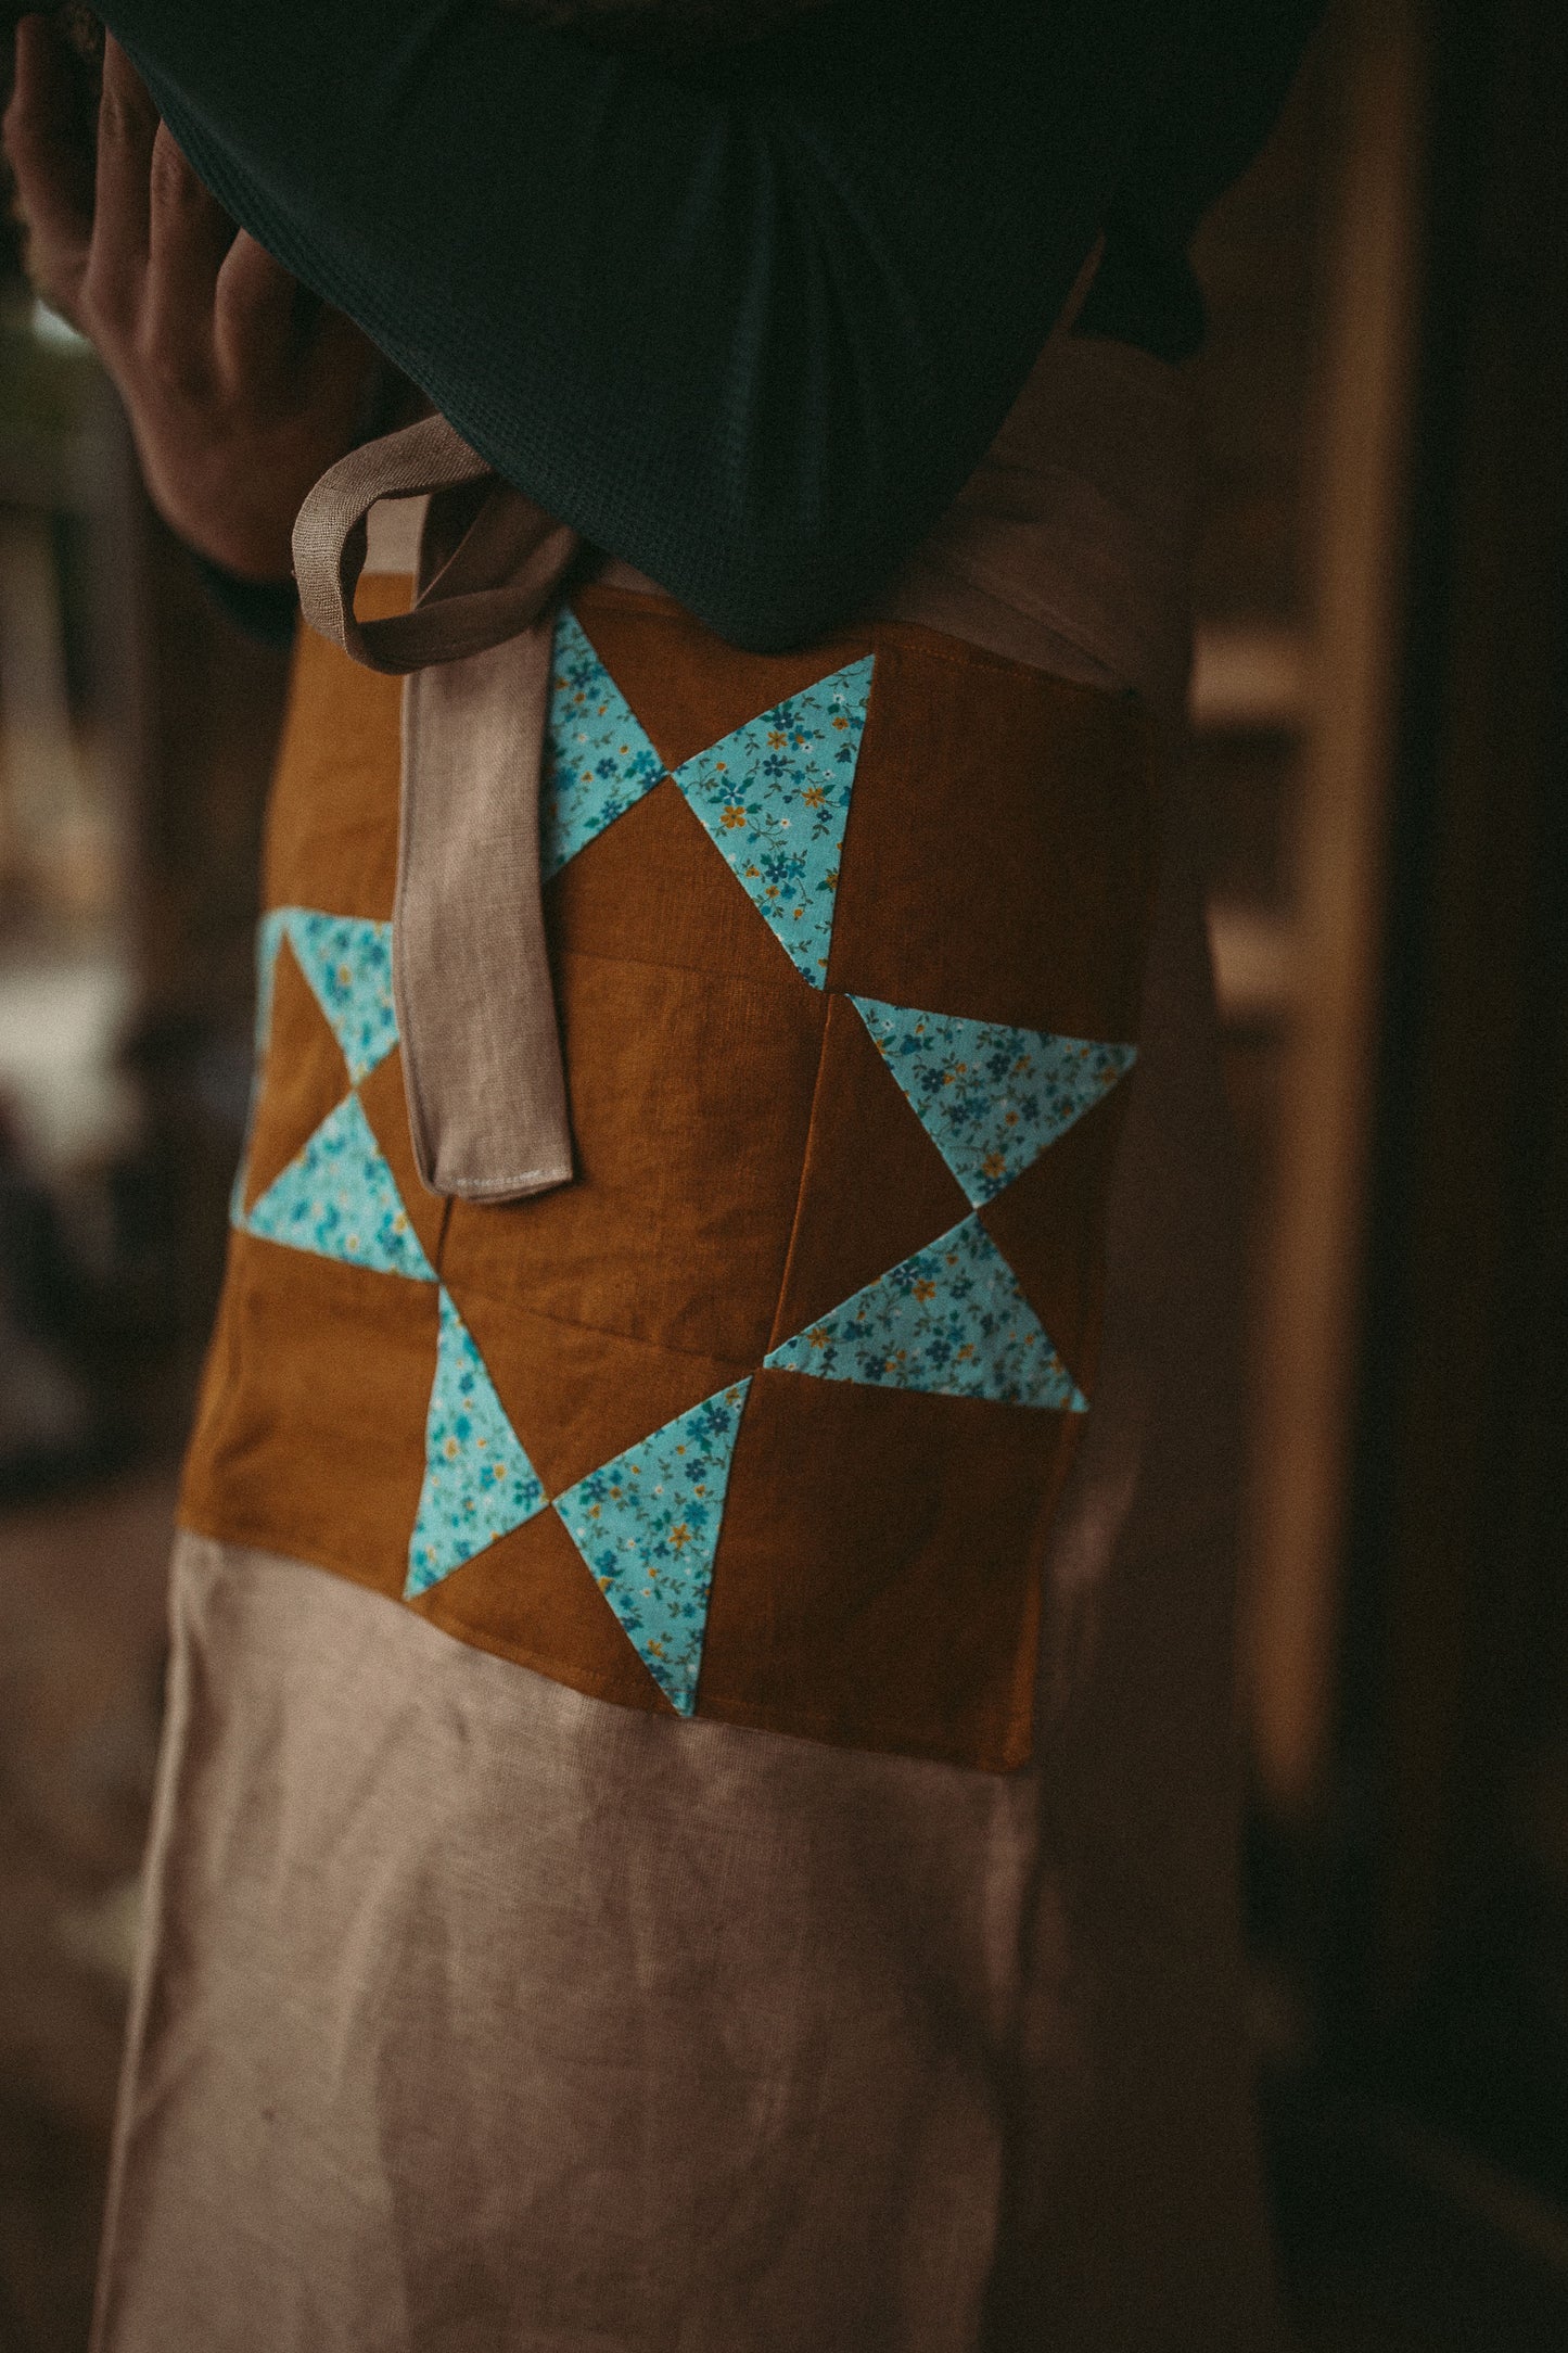
[[[1269,2344],[1185,421],[1065,348],[882,616],[564,602],[559,1191],[418,1184],[301,635],[101,2353]]]

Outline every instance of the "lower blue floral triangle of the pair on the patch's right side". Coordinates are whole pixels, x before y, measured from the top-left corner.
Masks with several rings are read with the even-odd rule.
[[[978,1217],[867,1282],[842,1308],[773,1348],[766,1362],[818,1381],[1086,1412],[1079,1386]]]

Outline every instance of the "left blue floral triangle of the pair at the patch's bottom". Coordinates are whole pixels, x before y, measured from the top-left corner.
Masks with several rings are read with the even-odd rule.
[[[451,1577],[498,1537],[545,1508],[473,1332],[442,1289],[442,1325],[425,1424],[425,1485],[409,1537],[404,1600]]]

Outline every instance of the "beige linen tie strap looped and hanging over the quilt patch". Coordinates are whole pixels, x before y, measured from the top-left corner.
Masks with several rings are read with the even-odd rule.
[[[371,506],[423,494],[414,609],[357,621]],[[393,1000],[418,1174],[461,1200],[571,1179],[538,788],[555,598],[578,546],[444,416],[350,452],[294,525],[306,621],[404,675]]]

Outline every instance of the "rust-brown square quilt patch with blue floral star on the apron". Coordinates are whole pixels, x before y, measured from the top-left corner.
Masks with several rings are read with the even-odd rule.
[[[447,1205],[388,981],[395,685],[306,638],[188,1522],[592,1699],[1020,1765],[1150,758],[1135,706],[931,631],[752,656],[583,588],[543,816],[576,1179]]]

